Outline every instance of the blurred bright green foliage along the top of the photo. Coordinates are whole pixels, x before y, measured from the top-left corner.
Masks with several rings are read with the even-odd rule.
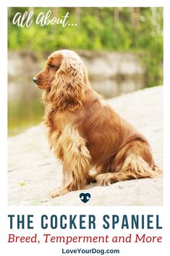
[[[35,24],[40,12],[62,17],[69,12],[69,22],[77,26]],[[16,12],[33,10],[33,25],[20,28],[12,24]],[[78,10],[78,12],[76,12]],[[117,12],[116,12],[117,11]],[[116,16],[117,14],[117,16]],[[53,51],[56,49],[88,49],[135,51],[146,66],[149,80],[162,80],[163,9],[162,8],[9,8],[9,49]]]

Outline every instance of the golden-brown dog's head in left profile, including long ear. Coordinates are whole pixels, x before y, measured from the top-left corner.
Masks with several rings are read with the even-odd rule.
[[[46,67],[33,81],[38,88],[46,90],[48,100],[58,109],[72,111],[80,109],[88,88],[88,75],[82,59],[75,51],[61,50],[52,53]]]

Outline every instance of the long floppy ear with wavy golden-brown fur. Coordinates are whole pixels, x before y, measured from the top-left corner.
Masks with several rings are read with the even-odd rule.
[[[85,80],[81,59],[64,57],[51,85],[50,99],[60,110],[80,110],[85,96]]]

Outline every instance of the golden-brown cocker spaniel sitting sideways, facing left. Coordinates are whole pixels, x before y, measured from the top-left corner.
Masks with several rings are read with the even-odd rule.
[[[108,185],[161,175],[145,136],[90,87],[85,65],[74,51],[52,53],[33,81],[44,90],[49,144],[63,165],[62,187],[52,197],[92,181]]]

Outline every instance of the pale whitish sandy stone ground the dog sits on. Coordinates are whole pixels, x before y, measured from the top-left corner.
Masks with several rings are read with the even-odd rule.
[[[146,88],[107,102],[130,120],[150,141],[153,155],[163,168],[163,87]],[[61,164],[48,149],[42,125],[9,138],[9,205],[162,205],[163,179],[123,181],[110,186],[90,184],[51,199],[48,192],[61,184]],[[87,204],[79,194],[89,192]]]

